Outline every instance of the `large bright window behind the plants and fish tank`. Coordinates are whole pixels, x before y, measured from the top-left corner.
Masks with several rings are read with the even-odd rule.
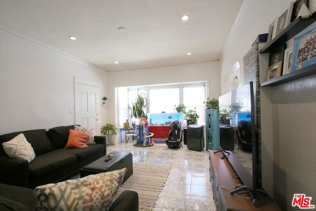
[[[128,105],[135,101],[138,91],[143,92],[147,98],[146,113],[173,113],[175,112],[175,105],[183,103],[187,107],[186,111],[197,109],[199,115],[197,123],[205,122],[203,102],[208,96],[208,82],[206,81],[118,87],[118,121],[120,126],[129,117]]]

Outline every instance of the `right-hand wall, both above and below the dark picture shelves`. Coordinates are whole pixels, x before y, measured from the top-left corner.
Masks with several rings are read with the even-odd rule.
[[[288,4],[289,0],[246,0],[220,61],[222,93],[229,91],[225,79],[236,62],[243,81],[243,56]],[[282,210],[293,210],[295,193],[312,197],[312,204],[316,204],[315,84],[316,76],[312,76],[261,89],[262,133],[270,137],[262,139],[266,151],[262,155],[263,185]]]

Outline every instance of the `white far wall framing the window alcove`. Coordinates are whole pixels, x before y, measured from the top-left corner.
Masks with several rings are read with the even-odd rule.
[[[148,84],[169,84],[193,81],[209,81],[209,97],[220,95],[219,62],[202,62],[187,65],[148,68],[121,72],[109,72],[107,89],[109,93],[108,121],[115,124],[115,87]],[[202,104],[203,102],[201,102]],[[116,142],[118,142],[118,137]]]

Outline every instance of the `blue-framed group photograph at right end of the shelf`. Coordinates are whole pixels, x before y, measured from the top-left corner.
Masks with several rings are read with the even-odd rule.
[[[316,27],[294,39],[291,72],[316,64]]]

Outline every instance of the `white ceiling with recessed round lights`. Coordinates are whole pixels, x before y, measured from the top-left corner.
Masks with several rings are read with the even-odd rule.
[[[0,0],[0,28],[107,72],[217,61],[243,1]]]

